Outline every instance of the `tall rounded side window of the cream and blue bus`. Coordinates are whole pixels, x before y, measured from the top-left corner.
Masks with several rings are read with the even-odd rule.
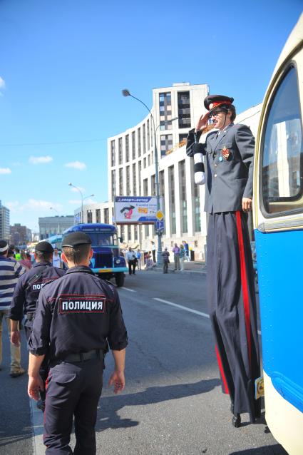
[[[292,66],[275,93],[265,128],[260,188],[265,217],[302,210],[302,166],[302,118]]]

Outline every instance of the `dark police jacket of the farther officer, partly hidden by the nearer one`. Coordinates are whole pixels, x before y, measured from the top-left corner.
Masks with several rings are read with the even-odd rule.
[[[34,313],[37,300],[42,287],[53,280],[58,280],[65,274],[65,271],[53,267],[51,262],[37,262],[31,270],[22,275],[15,287],[14,296],[11,300],[9,312],[10,319],[19,321],[23,313]],[[36,276],[36,280],[34,277]]]

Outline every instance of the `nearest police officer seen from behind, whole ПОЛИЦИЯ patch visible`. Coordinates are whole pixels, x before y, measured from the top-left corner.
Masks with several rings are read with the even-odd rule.
[[[103,357],[109,347],[115,360],[110,384],[124,389],[128,344],[118,293],[88,267],[93,250],[83,232],[63,240],[66,275],[43,287],[29,339],[29,396],[38,399],[43,382],[38,371],[48,352],[51,369],[46,389],[46,454],[96,454],[95,424],[102,390]],[[76,446],[69,446],[75,418]]]

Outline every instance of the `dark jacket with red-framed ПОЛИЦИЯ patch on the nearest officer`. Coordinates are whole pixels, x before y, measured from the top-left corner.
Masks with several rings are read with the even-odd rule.
[[[64,360],[69,354],[128,344],[118,292],[90,267],[68,269],[40,292],[29,352]],[[49,348],[49,350],[48,350]]]

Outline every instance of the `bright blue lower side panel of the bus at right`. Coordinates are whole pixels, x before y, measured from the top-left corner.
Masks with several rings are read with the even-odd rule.
[[[263,367],[274,389],[303,412],[303,231],[255,231]]]

